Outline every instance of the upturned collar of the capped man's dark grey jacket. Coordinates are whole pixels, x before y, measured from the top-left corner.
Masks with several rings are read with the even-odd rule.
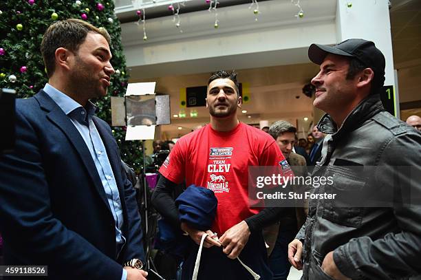
[[[363,122],[384,110],[380,95],[370,94],[349,113],[341,127],[338,128],[332,117],[329,114],[325,114],[317,124],[317,128],[323,133],[333,134],[332,138],[339,138],[346,133],[354,131]]]

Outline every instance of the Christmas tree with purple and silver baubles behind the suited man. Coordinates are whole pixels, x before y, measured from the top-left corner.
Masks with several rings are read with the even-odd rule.
[[[0,87],[15,89],[17,98],[28,98],[43,89],[47,74],[40,52],[43,34],[54,21],[83,19],[105,28],[111,36],[111,77],[109,95],[123,96],[127,87],[125,56],[122,53],[120,22],[114,1],[92,0],[6,0],[0,1]],[[97,116],[111,125],[111,98],[96,100]],[[113,127],[122,160],[140,171],[140,142],[125,141],[125,127]]]

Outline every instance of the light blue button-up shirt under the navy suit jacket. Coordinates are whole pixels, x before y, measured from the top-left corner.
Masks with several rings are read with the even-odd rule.
[[[102,142],[98,130],[94,125],[92,116],[95,114],[96,107],[90,101],[86,105],[86,109],[63,92],[52,87],[48,83],[44,87],[44,91],[54,100],[63,112],[70,118],[80,136],[91,153],[92,160],[95,162],[96,170],[100,176],[102,186],[104,186],[105,194],[111,213],[113,214],[116,228],[116,242],[120,251],[125,244],[125,237],[122,235],[121,228],[123,224],[123,213],[118,193],[116,179],[114,177],[111,164],[109,163],[107,151]],[[127,279],[127,271],[123,269],[122,280]]]

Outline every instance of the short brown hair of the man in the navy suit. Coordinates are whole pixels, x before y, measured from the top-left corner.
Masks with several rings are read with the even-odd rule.
[[[111,37],[105,28],[96,28],[80,19],[56,21],[47,28],[41,42],[41,54],[48,77],[54,74],[56,68],[56,50],[59,47],[64,47],[70,52],[76,53],[79,46],[85,41],[88,32],[101,34],[108,43],[111,41]]]

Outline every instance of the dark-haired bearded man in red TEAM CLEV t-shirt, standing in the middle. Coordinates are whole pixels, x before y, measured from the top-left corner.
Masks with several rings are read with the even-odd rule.
[[[284,169],[286,161],[268,133],[239,122],[236,112],[241,107],[241,96],[236,75],[218,71],[209,78],[206,107],[210,124],[177,141],[160,168],[162,176],[152,197],[153,205],[165,219],[200,244],[205,232],[180,222],[171,191],[186,180],[186,186],[204,186],[215,193],[217,213],[212,228],[206,230],[210,237],[206,237],[204,247],[209,250],[202,252],[199,279],[250,278],[239,262],[233,260],[238,256],[262,279],[272,279],[261,228],[279,219],[281,208],[260,211],[250,207],[248,166],[283,164]],[[292,174],[289,167],[285,173]],[[216,235],[220,236],[219,241],[212,238]],[[197,247],[186,258],[182,279],[191,279],[195,252]],[[206,259],[211,264],[207,265]]]

